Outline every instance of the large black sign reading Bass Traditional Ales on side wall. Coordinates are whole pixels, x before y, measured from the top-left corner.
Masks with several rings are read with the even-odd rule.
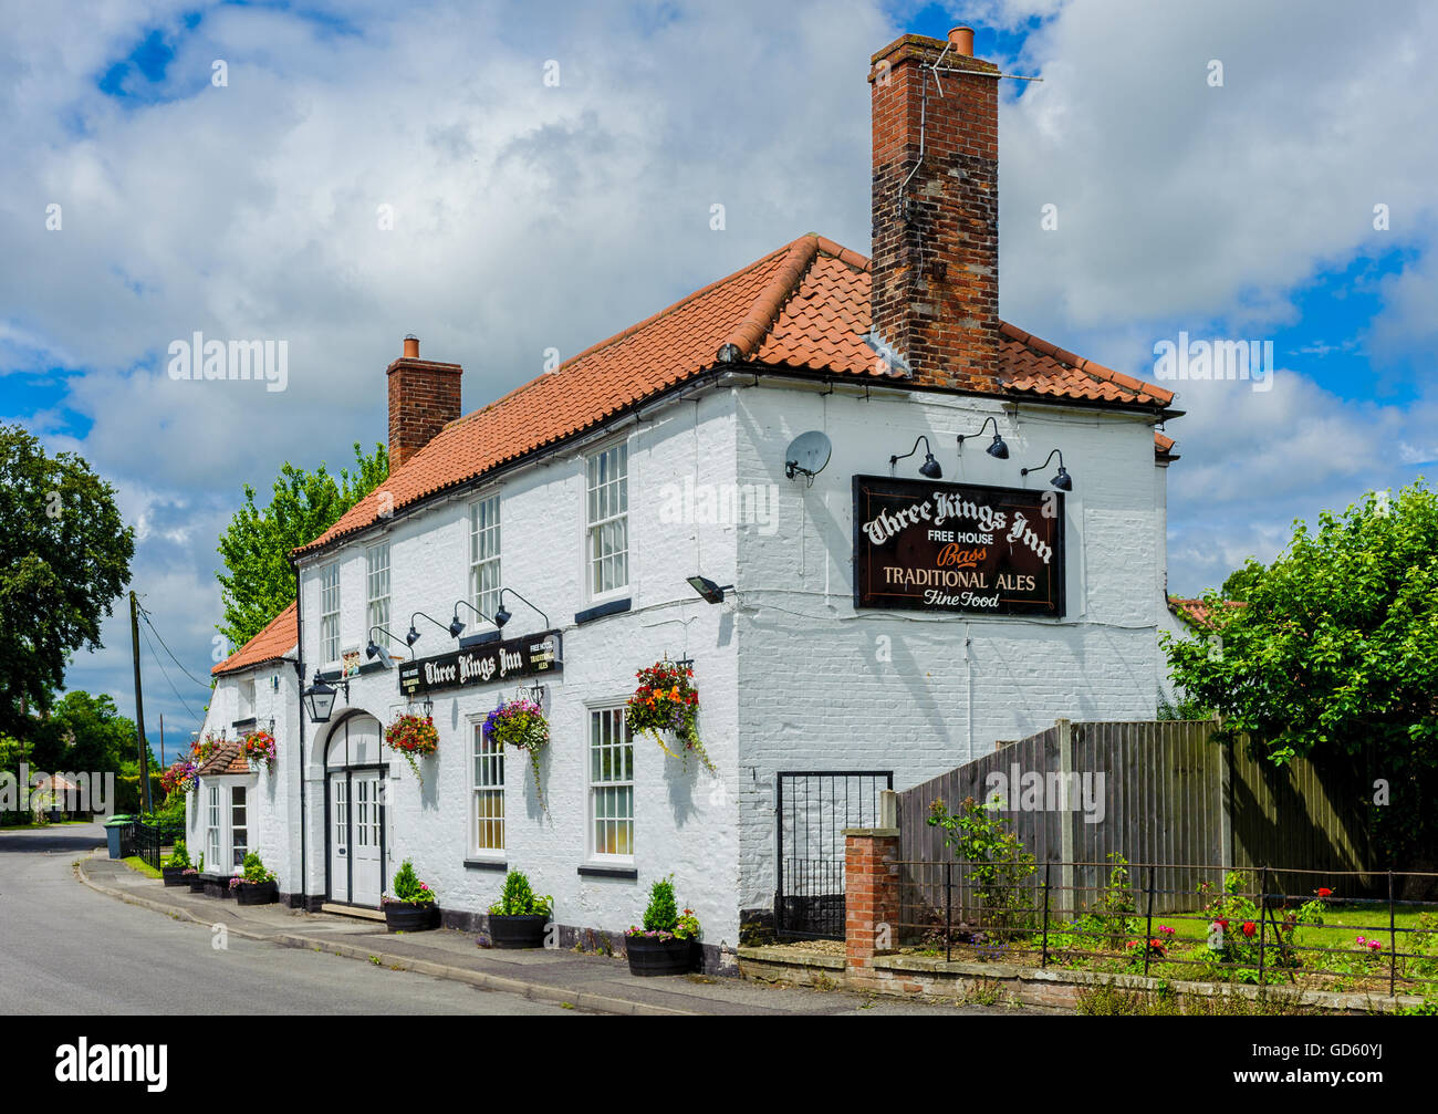
[[[854,607],[1064,614],[1064,494],[854,477]]]

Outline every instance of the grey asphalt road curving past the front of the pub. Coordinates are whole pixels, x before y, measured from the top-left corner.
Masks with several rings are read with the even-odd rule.
[[[0,1013],[578,1013],[518,995],[230,936],[81,885],[99,825],[0,831]]]

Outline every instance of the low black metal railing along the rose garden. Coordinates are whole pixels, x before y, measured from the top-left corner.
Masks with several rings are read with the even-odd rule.
[[[892,946],[946,960],[1306,989],[1438,989],[1438,874],[1172,862],[902,861]],[[1278,875],[1306,878],[1286,893]],[[1076,884],[1074,878],[1096,878]],[[1198,878],[1195,884],[1192,880]],[[1172,881],[1171,881],[1172,880]],[[1359,896],[1380,893],[1380,897]],[[1166,898],[1166,900],[1165,900]],[[1156,904],[1182,911],[1156,911]]]

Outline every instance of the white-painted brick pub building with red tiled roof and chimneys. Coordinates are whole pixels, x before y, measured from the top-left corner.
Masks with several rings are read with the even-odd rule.
[[[462,368],[406,339],[388,480],[216,667],[207,730],[273,719],[279,759],[201,776],[207,868],[257,848],[292,904],[377,907],[411,858],[472,930],[519,868],[562,943],[637,923],[673,874],[725,966],[787,885],[781,775],[903,789],[1060,716],[1153,717],[1172,394],[998,318],[998,69],[972,33],[905,36],[869,76],[871,259],[802,236],[470,414]],[[626,724],[666,657],[715,773]],[[482,732],[523,693],[542,804]],[[423,781],[381,742],[407,710],[439,729]]]

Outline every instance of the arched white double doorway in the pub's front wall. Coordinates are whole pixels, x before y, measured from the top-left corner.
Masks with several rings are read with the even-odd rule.
[[[362,712],[325,743],[325,890],[331,901],[380,906],[384,893],[384,779],[380,720]]]

